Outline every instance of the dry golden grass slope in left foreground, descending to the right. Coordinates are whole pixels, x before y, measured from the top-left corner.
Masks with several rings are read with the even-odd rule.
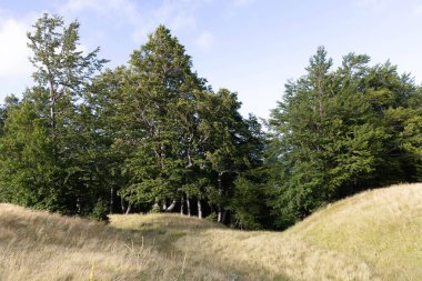
[[[183,265],[148,231],[0,204],[0,280],[230,280]],[[182,272],[183,269],[183,272]]]

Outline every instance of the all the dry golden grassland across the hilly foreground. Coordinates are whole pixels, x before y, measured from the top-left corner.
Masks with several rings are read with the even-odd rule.
[[[0,280],[420,280],[422,184],[368,191],[284,232],[177,214],[104,225],[0,204]]]

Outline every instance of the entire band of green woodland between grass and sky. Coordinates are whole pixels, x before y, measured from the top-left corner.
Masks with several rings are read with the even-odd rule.
[[[0,107],[0,202],[105,219],[180,212],[284,229],[362,190],[422,180],[422,88],[390,62],[320,47],[269,120],[239,113],[163,26],[105,69],[79,23],[28,32],[34,86]],[[264,94],[264,93],[261,93]]]

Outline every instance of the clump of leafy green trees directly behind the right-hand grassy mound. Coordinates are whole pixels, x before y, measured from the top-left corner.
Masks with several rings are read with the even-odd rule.
[[[415,180],[418,150],[411,143],[420,134],[409,104],[418,100],[416,88],[389,62],[368,62],[351,53],[330,72],[332,62],[319,48],[308,74],[285,86],[269,120],[279,227],[344,195]]]

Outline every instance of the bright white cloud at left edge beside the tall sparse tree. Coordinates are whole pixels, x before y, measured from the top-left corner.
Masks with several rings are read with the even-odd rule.
[[[32,66],[28,58],[30,50],[27,47],[28,21],[13,18],[0,20],[0,78],[16,79],[28,77]]]

